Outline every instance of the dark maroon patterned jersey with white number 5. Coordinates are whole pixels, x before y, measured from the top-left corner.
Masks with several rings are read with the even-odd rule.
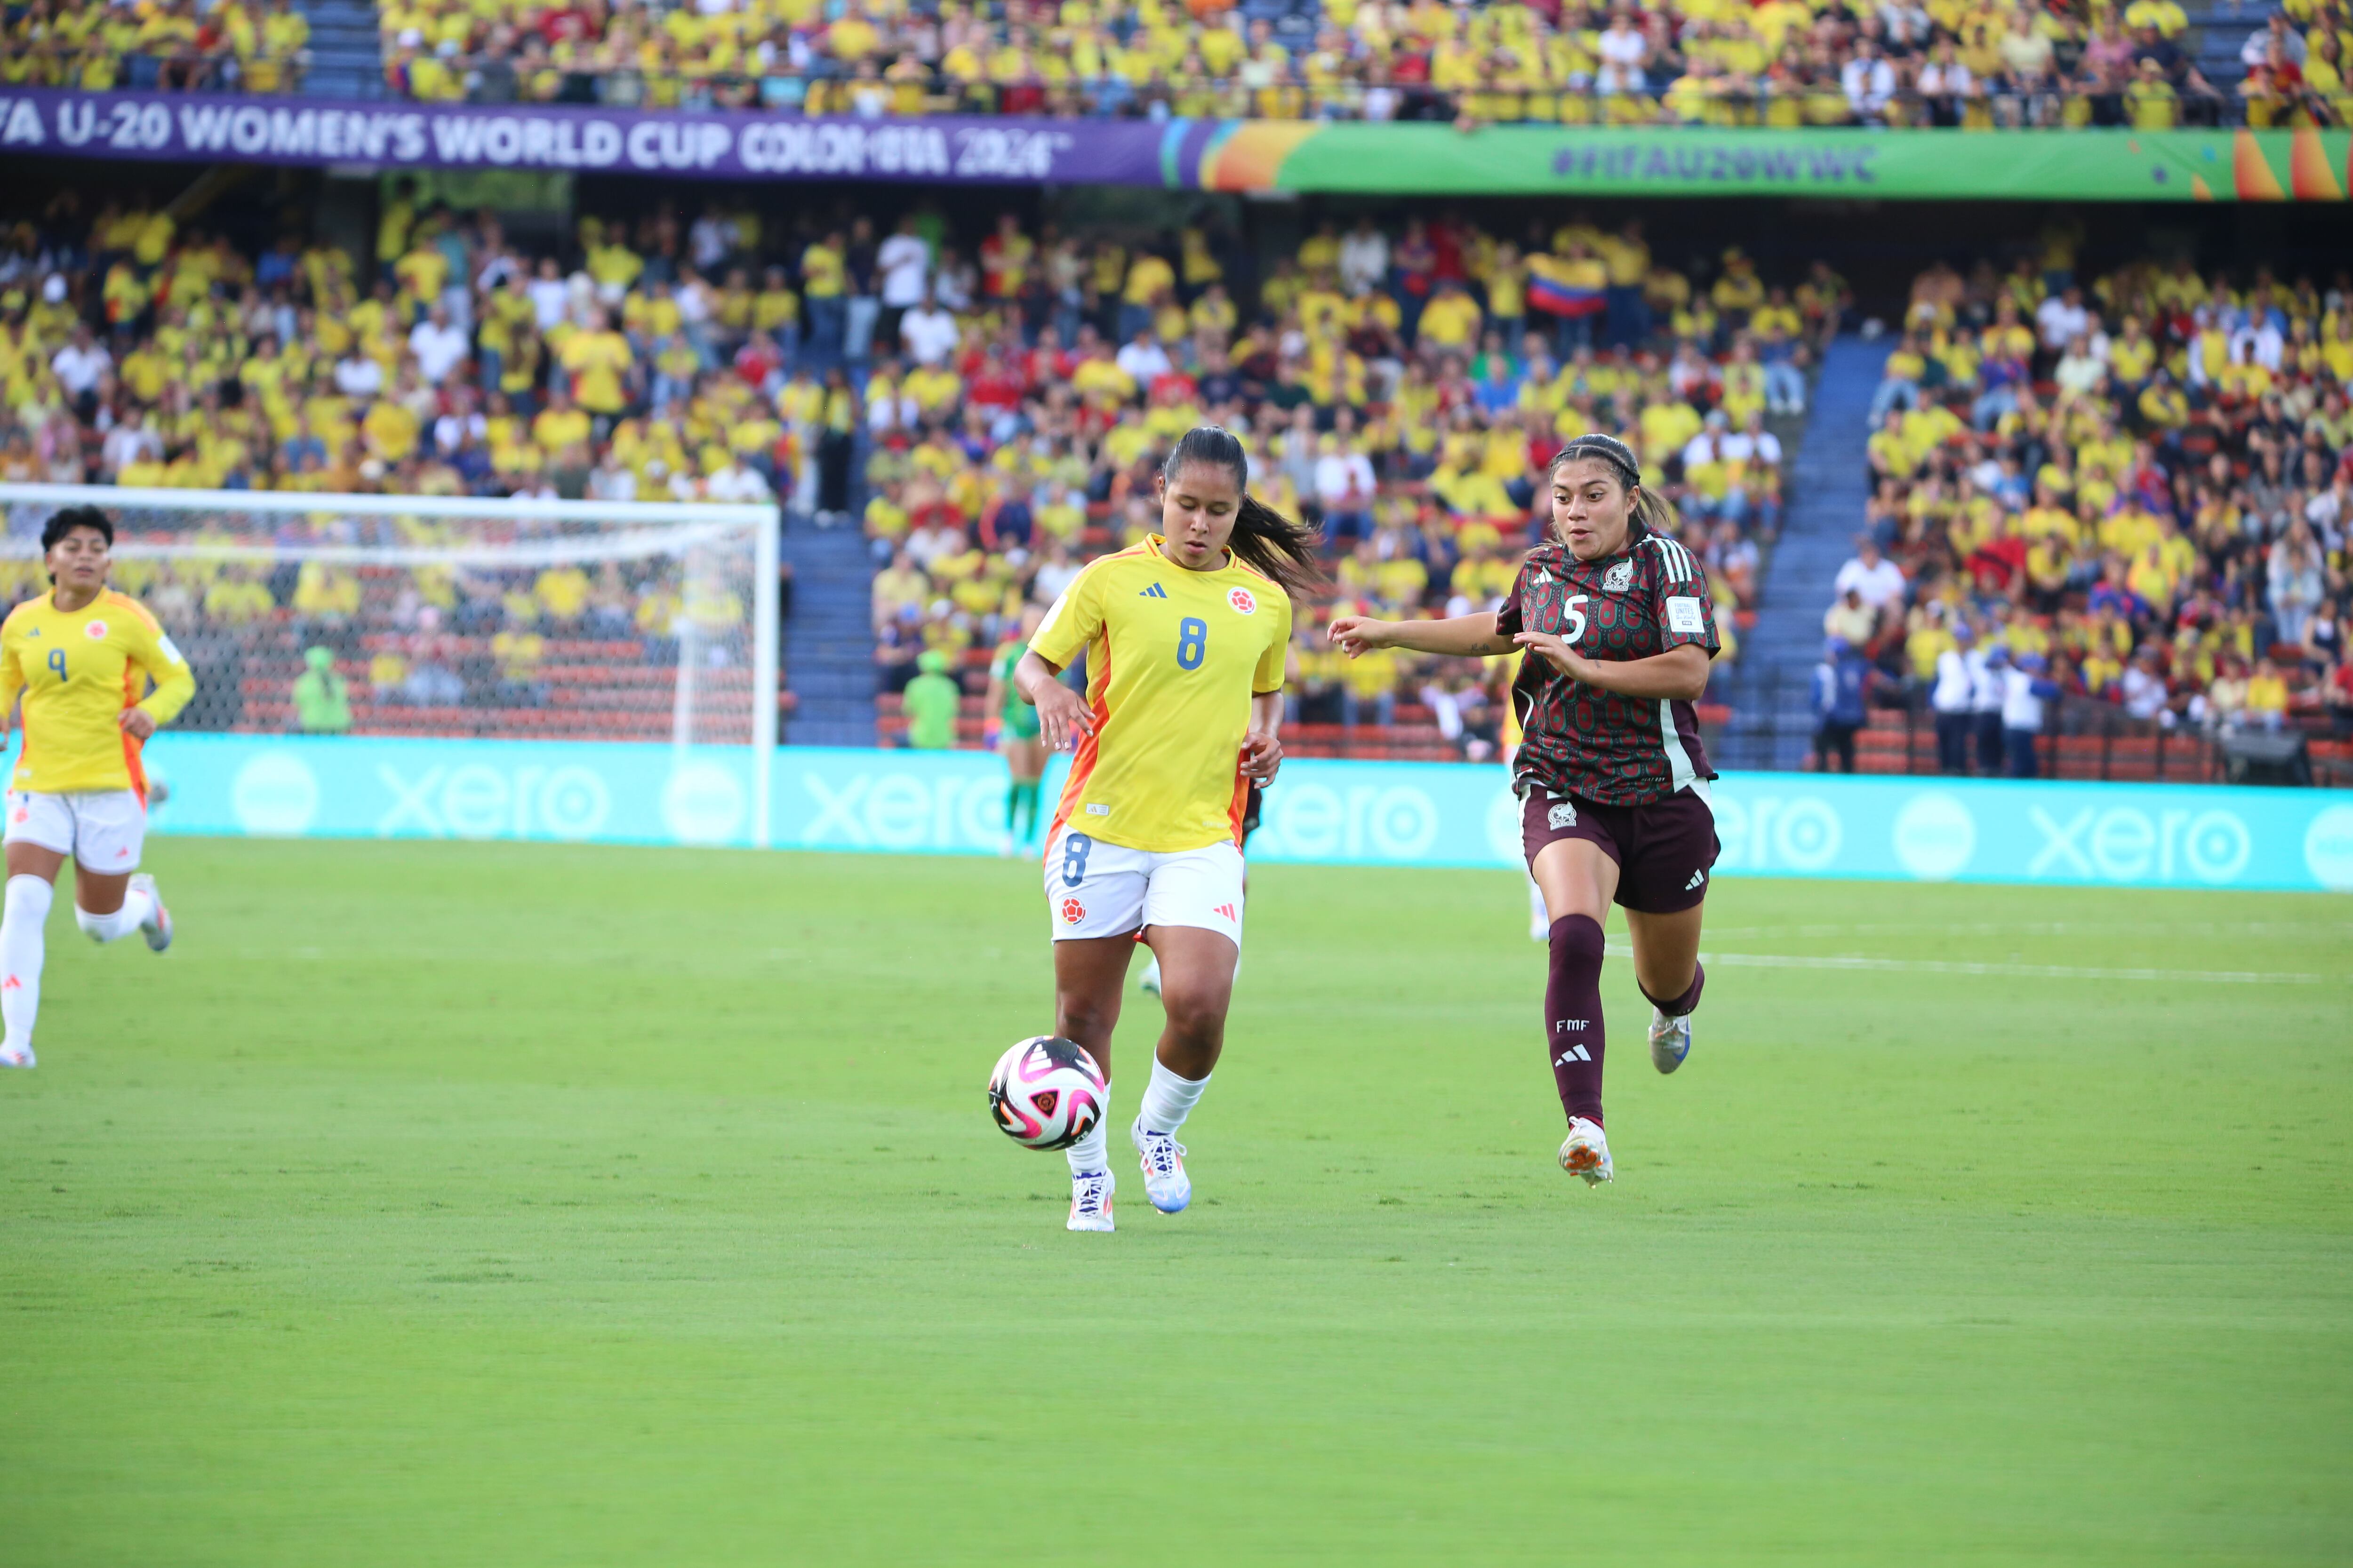
[[[1626,550],[1581,562],[1560,543],[1527,552],[1494,630],[1558,632],[1586,658],[1649,658],[1697,642],[1715,658],[1708,574],[1666,534],[1638,531]],[[1598,691],[1529,649],[1511,684],[1520,712],[1520,780],[1605,806],[1647,806],[1694,778],[1715,778],[1689,703]]]

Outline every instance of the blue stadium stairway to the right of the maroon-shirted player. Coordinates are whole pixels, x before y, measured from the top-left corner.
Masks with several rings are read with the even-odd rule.
[[[1720,762],[1732,769],[1795,769],[1814,729],[1809,686],[1821,658],[1821,611],[1831,578],[1854,552],[1854,531],[1871,498],[1866,442],[1871,393],[1887,343],[1838,339],[1821,360],[1805,442],[1791,468],[1791,503],[1781,538],[1765,564],[1758,623],[1732,672],[1732,719]]]

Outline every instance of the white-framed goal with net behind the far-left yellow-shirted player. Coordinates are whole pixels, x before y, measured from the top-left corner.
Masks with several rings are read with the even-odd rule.
[[[767,842],[774,508],[0,484],[9,604],[66,505],[195,668],[179,729],[746,745]]]

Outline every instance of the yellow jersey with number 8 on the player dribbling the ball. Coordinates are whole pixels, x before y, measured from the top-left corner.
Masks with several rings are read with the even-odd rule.
[[[1078,574],[1031,649],[1087,654],[1094,733],[1078,738],[1054,825],[1153,853],[1242,842],[1249,698],[1282,691],[1292,602],[1228,557],[1186,571],[1153,534]]]

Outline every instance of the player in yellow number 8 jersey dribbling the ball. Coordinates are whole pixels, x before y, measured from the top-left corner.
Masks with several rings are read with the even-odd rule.
[[[1247,496],[1242,442],[1202,425],[1160,470],[1160,534],[1078,574],[1014,686],[1073,750],[1045,844],[1054,1032],[1111,1077],[1136,933],[1160,959],[1167,1025],[1129,1128],[1153,1208],[1193,1197],[1176,1128],[1226,1044],[1242,954],[1242,811],[1282,764],[1289,590],[1318,583],[1313,536]],[[1061,672],[1087,656],[1087,696]],[[1071,1145],[1071,1229],[1111,1229],[1106,1121]]]

